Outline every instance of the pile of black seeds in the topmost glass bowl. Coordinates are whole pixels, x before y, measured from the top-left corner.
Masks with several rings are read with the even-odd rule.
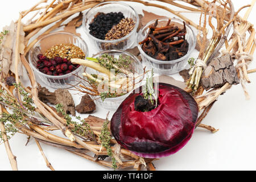
[[[119,13],[98,13],[92,23],[89,24],[90,34],[98,39],[105,40],[108,31],[125,18],[121,12]]]

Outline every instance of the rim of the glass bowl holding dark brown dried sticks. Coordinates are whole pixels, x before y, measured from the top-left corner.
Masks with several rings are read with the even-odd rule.
[[[167,20],[167,21],[168,21],[168,19],[169,19],[169,18],[158,18],[158,20]],[[182,20],[177,19],[177,18],[171,18],[171,20],[175,20],[175,21],[178,22],[178,23],[180,23],[180,22],[183,23]],[[150,25],[151,25],[152,23],[154,23],[155,21],[156,21],[156,19],[151,20],[150,22],[148,22],[147,24],[145,24],[143,27],[141,27],[141,29],[140,29],[139,32],[138,32],[138,35],[142,34],[142,30],[143,30],[144,28],[150,26]],[[184,21],[184,22],[185,22],[185,21]],[[195,31],[193,31],[193,29],[191,28],[191,26],[189,26],[188,23],[185,22],[185,25],[186,25],[186,28],[188,28],[189,30],[191,30],[193,40],[196,41]],[[175,63],[179,63],[179,62],[182,61],[185,57],[187,57],[188,55],[191,54],[191,52],[192,52],[192,51],[195,49],[195,47],[196,47],[196,43],[195,43],[195,42],[192,42],[192,43],[193,43],[193,44],[192,44],[191,48],[188,49],[188,52],[187,52],[184,56],[180,57],[179,59],[169,60],[169,61],[162,61],[162,60],[155,59],[154,57],[148,56],[148,55],[146,54],[146,52],[144,52],[144,51],[142,50],[141,45],[139,45],[138,42],[137,42],[137,47],[138,47],[139,51],[141,52],[141,54],[142,54],[143,56],[145,56],[145,57],[146,57],[148,60],[150,60],[150,61],[153,61],[153,62],[158,63],[158,64],[170,64],[170,63],[171,63],[171,64],[175,64]]]

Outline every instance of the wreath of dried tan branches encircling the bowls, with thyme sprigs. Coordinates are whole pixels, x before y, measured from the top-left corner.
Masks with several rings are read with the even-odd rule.
[[[115,1],[115,0],[112,0]],[[100,0],[67,0],[56,1],[52,0],[46,6],[40,6],[42,3],[47,3],[47,0],[40,1],[32,6],[30,9],[20,13],[17,22],[11,23],[11,26],[6,27],[6,31],[1,34],[1,97],[0,97],[0,127],[1,139],[5,143],[6,151],[10,159],[11,167],[17,170],[16,157],[11,152],[9,145],[10,136],[7,133],[15,133],[17,130],[20,133],[33,137],[38,144],[39,150],[42,152],[46,160],[47,167],[54,170],[48,162],[42,147],[39,142],[49,144],[51,146],[63,148],[73,154],[79,155],[82,158],[91,160],[97,164],[113,168],[127,168],[134,167],[138,170],[144,165],[149,170],[155,170],[152,161],[157,159],[141,158],[134,155],[129,150],[121,148],[117,142],[112,139],[109,129],[108,117],[100,119],[89,116],[85,122],[81,118],[82,123],[77,124],[73,122],[71,117],[63,111],[61,105],[56,105],[56,110],[44,104],[38,97],[38,83],[35,80],[34,72],[27,61],[27,53],[36,43],[37,39],[30,42],[31,38],[38,34],[39,31],[47,27],[42,35],[48,34],[56,28],[63,26],[65,20],[69,19],[73,14],[80,13],[86,9],[96,6],[98,3],[104,2]],[[222,82],[210,90],[205,90],[200,84],[200,79],[205,76],[204,70],[207,70],[207,65],[212,60],[222,47],[222,55],[230,55],[236,59],[236,71],[241,82],[242,88],[246,97],[247,93],[245,83],[250,83],[248,74],[256,72],[255,69],[247,70],[247,65],[253,60],[252,56],[255,50],[255,29],[253,24],[247,21],[250,11],[255,3],[241,7],[237,12],[234,12],[232,1],[214,0],[208,2],[205,0],[194,0],[183,2],[188,5],[181,5],[175,1],[162,1],[167,5],[180,7],[188,12],[201,14],[199,24],[192,22],[182,12],[174,11],[168,6],[158,5],[151,2],[141,0],[131,0],[131,2],[142,3],[146,6],[159,7],[170,11],[186,23],[197,28],[199,34],[197,35],[197,42],[200,46],[199,57],[195,63],[191,63],[190,77],[187,81],[188,86],[186,91],[191,93],[195,98],[199,110],[202,114],[197,119],[196,126],[203,127],[209,131],[215,132],[213,127],[201,124],[201,121],[208,114],[218,96],[226,92],[231,86],[230,82]],[[248,7],[245,16],[240,17],[238,13]],[[41,14],[39,14],[41,12]],[[43,13],[42,13],[43,12]],[[22,24],[22,19],[29,13],[33,13],[32,19],[28,20],[26,24]],[[39,18],[35,19],[39,14]],[[225,16],[223,16],[223,14]],[[208,18],[208,21],[207,21]],[[217,27],[213,26],[212,18],[217,20]],[[69,21],[77,22],[81,16],[69,19]],[[67,22],[65,22],[67,23]],[[207,45],[207,26],[212,29],[212,38]],[[228,40],[230,30],[233,28],[233,33]],[[246,36],[249,34],[249,36]],[[15,37],[15,45],[10,44],[11,39]],[[205,50],[205,47],[207,49]],[[13,56],[13,57],[11,57]],[[13,60],[13,61],[11,61]],[[24,87],[20,83],[19,76],[22,73],[22,65],[26,68],[31,82],[31,88]],[[15,80],[11,80],[11,76]],[[60,116],[58,113],[61,113]],[[8,121],[8,122],[7,122]],[[102,127],[93,127],[88,124],[89,121],[97,121],[101,123]],[[9,126],[11,125],[11,126]],[[50,131],[60,130],[66,138],[57,137],[51,134]],[[110,145],[111,144],[111,145]],[[88,154],[93,152],[94,156]],[[112,161],[104,160],[106,156],[111,156]]]

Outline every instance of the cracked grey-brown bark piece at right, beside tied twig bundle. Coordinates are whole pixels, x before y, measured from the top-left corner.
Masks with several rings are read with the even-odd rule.
[[[216,57],[210,61],[201,78],[201,85],[205,90],[219,88],[226,83],[230,85],[239,84],[236,69],[230,55]]]

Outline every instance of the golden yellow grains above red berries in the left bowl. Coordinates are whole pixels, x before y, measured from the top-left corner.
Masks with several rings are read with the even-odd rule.
[[[85,54],[82,49],[73,44],[58,44],[56,46],[52,46],[44,53],[44,56],[48,57],[49,59],[61,57],[67,60],[71,60],[73,58],[85,58]]]

